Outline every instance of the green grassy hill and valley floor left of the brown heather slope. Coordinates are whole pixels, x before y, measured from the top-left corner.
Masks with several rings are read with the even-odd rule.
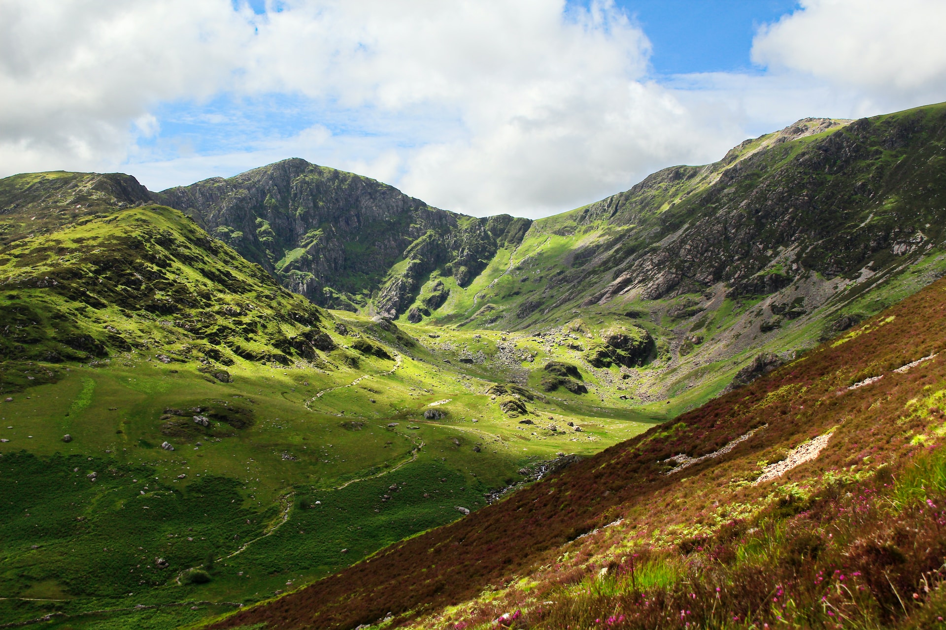
[[[181,213],[122,196],[123,181],[0,180],[5,621],[176,627],[229,605],[183,603],[306,584],[482,507],[523,467],[655,421],[565,393],[520,424],[486,393],[521,369],[500,360],[498,334],[325,312]],[[308,333],[334,349],[300,345]],[[462,364],[470,345],[479,363]],[[423,416],[445,399],[445,417]],[[188,584],[208,556],[212,580]]]

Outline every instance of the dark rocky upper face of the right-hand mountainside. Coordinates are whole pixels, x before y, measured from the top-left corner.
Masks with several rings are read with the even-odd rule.
[[[941,108],[804,119],[720,162],[659,171],[582,210],[576,229],[606,222],[612,233],[572,275],[603,288],[567,297],[674,298],[721,281],[732,297],[769,295],[808,274],[902,264],[941,239],[936,198],[946,191],[930,160],[944,134]]]

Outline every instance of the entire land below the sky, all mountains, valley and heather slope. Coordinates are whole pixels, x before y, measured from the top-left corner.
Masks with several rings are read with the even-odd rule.
[[[0,626],[939,627],[944,147],[806,118],[537,220],[0,179]]]

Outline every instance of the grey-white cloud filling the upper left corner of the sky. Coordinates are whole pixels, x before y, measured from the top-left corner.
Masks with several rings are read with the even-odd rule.
[[[229,0],[0,3],[0,167],[122,160],[157,132],[149,107],[227,85],[251,15]]]

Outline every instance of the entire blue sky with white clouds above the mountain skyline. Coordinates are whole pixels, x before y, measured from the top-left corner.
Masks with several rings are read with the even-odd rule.
[[[542,216],[946,101],[944,0],[0,0],[0,177],[289,157]]]

